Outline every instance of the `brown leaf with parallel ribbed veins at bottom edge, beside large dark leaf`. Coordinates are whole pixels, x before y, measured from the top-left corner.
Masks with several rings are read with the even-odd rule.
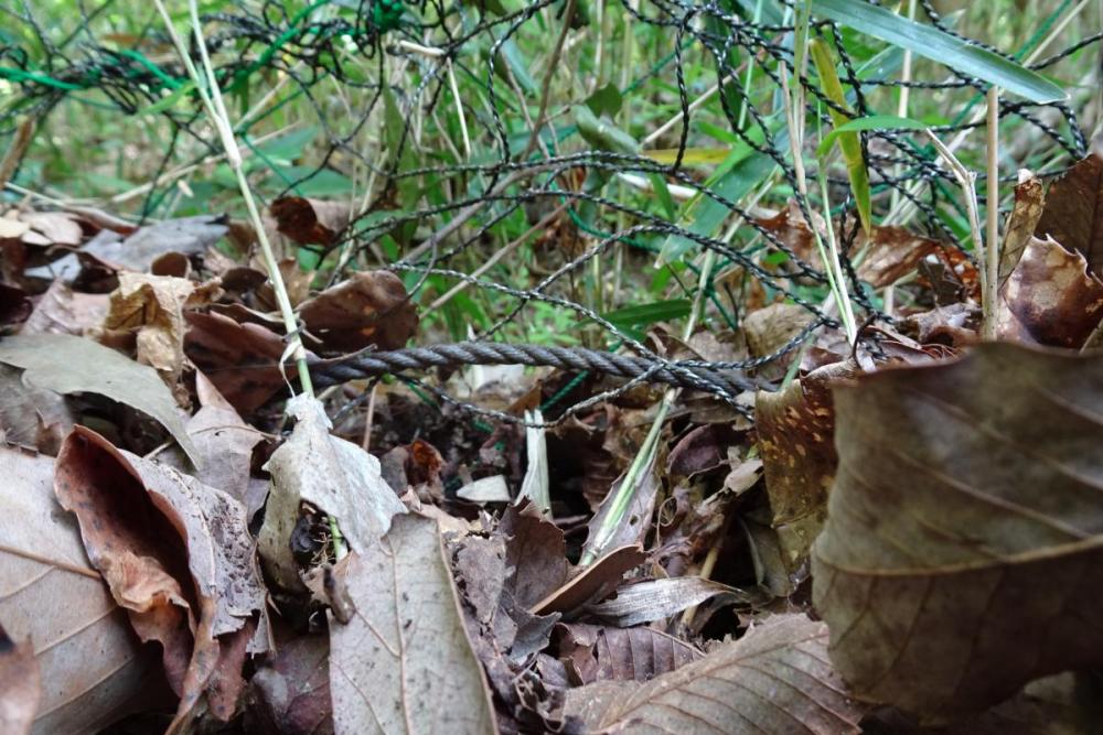
[[[847,698],[826,648],[826,625],[778,615],[644,684],[569,690],[564,713],[590,732],[858,733],[863,707]]]

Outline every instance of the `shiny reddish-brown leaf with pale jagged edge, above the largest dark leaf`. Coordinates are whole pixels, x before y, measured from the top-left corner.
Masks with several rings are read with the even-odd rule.
[[[1103,281],[1053,240],[1024,246],[999,298],[1002,339],[1079,349],[1103,318]]]

